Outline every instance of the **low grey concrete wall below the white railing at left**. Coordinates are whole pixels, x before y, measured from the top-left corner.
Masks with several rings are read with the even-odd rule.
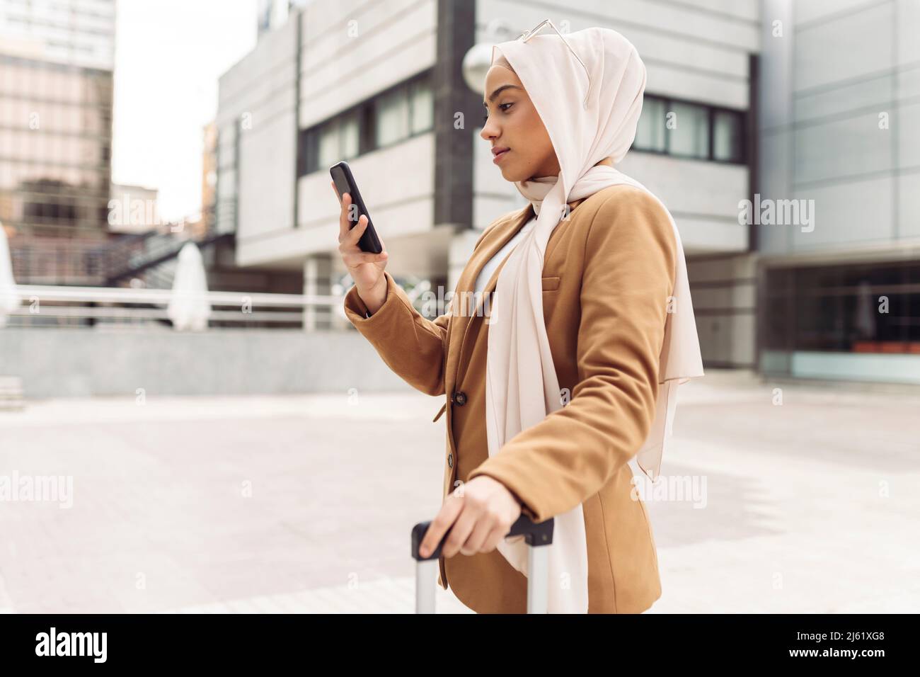
[[[399,391],[356,332],[5,329],[0,375],[27,398]]]

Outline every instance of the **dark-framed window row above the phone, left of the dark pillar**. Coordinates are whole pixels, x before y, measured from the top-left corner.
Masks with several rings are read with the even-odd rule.
[[[357,158],[431,131],[434,98],[430,74],[413,77],[325,123],[302,130],[298,135],[298,174],[328,169],[339,160]]]

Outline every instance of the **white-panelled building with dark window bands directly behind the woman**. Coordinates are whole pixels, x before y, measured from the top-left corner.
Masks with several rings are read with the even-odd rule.
[[[302,271],[307,293],[342,280],[328,168],[346,159],[387,270],[452,289],[482,229],[525,204],[478,136],[482,92],[466,86],[464,57],[547,17],[564,32],[614,28],[638,47],[648,97],[623,169],[681,230],[707,365],[753,366],[755,255],[738,203],[756,167],[758,0],[297,9],[220,80],[218,224],[236,232],[236,263]],[[308,326],[330,321],[317,313]]]

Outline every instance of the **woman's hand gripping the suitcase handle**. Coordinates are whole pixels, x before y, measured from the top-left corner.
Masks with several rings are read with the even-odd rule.
[[[498,480],[479,475],[444,500],[421,541],[420,554],[427,557],[434,552],[448,529],[451,532],[441,551],[445,557],[458,551],[466,555],[489,553],[520,516],[521,504],[512,492]]]

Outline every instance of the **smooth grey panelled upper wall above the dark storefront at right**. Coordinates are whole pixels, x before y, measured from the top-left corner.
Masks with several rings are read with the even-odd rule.
[[[761,228],[763,253],[830,261],[920,242],[920,4],[765,0],[764,28],[761,193],[814,200],[815,225]]]

